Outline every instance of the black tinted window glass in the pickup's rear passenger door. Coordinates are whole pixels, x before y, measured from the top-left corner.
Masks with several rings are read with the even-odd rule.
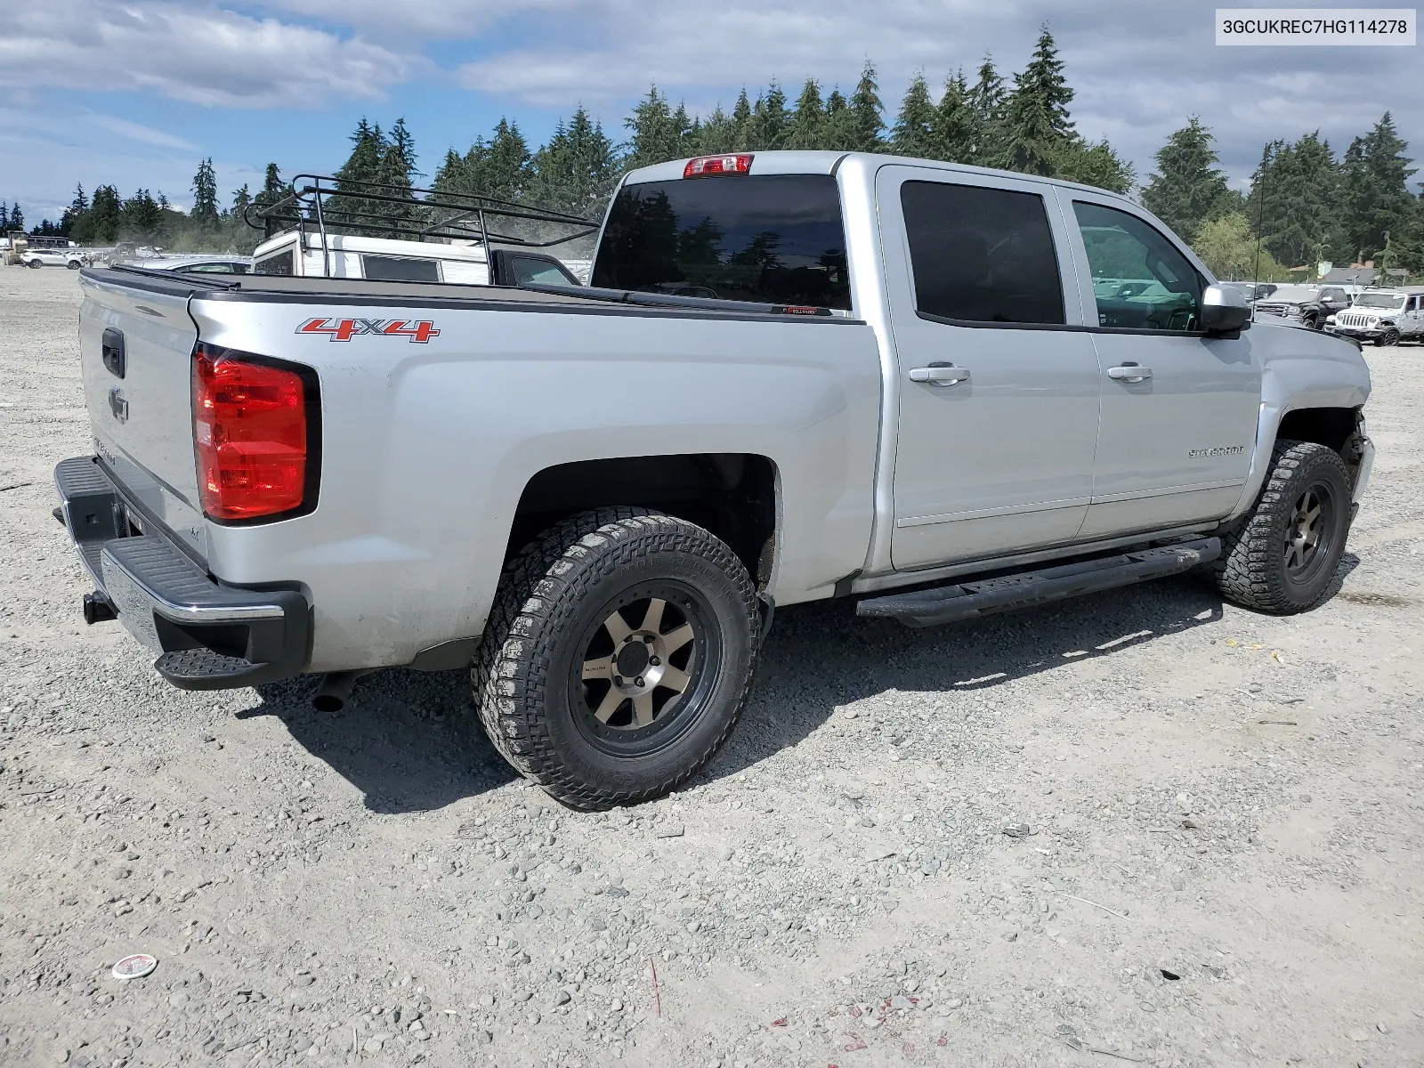
[[[1064,288],[1042,197],[906,182],[900,205],[921,315],[1062,325]]]

